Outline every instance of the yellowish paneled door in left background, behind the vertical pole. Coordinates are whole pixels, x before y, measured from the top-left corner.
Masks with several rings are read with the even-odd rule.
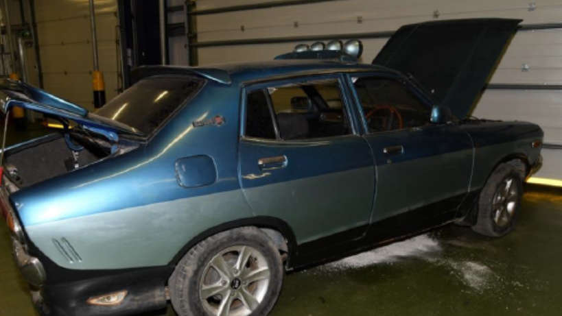
[[[35,0],[45,90],[93,110],[88,0]],[[99,67],[107,99],[117,95],[117,0],[95,0]]]

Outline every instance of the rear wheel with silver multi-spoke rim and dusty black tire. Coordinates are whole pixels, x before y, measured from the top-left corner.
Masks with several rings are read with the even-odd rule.
[[[236,228],[195,245],[169,278],[179,316],[265,316],[277,302],[283,263],[272,240],[254,227]]]

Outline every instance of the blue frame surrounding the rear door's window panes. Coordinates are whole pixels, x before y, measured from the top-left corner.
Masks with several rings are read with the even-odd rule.
[[[249,83],[242,87],[242,109],[241,109],[241,126],[239,127],[240,134],[239,138],[242,140],[248,141],[264,141],[266,143],[322,143],[323,141],[330,141],[336,138],[347,137],[347,136],[360,136],[360,126],[356,123],[355,120],[355,106],[353,105],[353,100],[349,97],[350,91],[347,86],[346,78],[343,76],[342,73],[327,73],[327,74],[309,74],[305,76],[298,76],[298,77],[285,77],[279,79],[272,79],[268,81],[260,81],[255,83]],[[306,84],[307,82],[316,83],[316,82],[325,82],[328,80],[334,80],[338,85],[340,98],[342,101],[342,108],[346,112],[347,119],[349,121],[349,126],[351,131],[349,134],[345,135],[338,135],[338,136],[326,136],[326,137],[316,137],[316,138],[305,138],[299,140],[288,140],[285,141],[281,138],[281,133],[279,132],[279,125],[277,125],[277,115],[274,113],[273,104],[271,101],[271,97],[269,93],[266,93],[266,99],[268,100],[268,108],[270,110],[270,114],[272,115],[273,123],[274,123],[274,131],[276,134],[276,139],[268,139],[268,138],[258,138],[253,136],[246,136],[246,106],[248,103],[248,95],[253,93],[257,90],[265,91],[268,88],[280,88],[285,86],[299,86]],[[351,96],[353,99],[353,96]]]

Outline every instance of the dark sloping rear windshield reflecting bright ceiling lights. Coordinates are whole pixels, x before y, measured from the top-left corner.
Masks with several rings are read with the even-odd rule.
[[[152,134],[202,87],[194,77],[152,77],[139,81],[95,114]]]

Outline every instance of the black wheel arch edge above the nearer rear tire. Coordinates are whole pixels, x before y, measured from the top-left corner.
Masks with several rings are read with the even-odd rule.
[[[235,221],[229,221],[227,223],[222,223],[218,226],[214,226],[213,228],[209,228],[201,232],[196,237],[191,239],[179,252],[174,256],[172,261],[169,262],[169,265],[175,266],[178,262],[189,252],[189,250],[204,241],[204,239],[209,238],[215,234],[220,232],[225,232],[226,230],[233,230],[235,228],[246,227],[246,226],[254,226],[256,228],[260,228],[270,239],[272,239],[273,243],[280,249],[286,250],[288,252],[288,260],[292,258],[294,254],[296,254],[296,236],[292,228],[289,226],[288,223],[285,221],[278,219],[277,217],[250,217],[246,219],[237,219]],[[279,236],[282,236],[285,239],[286,247],[283,249],[283,246],[279,247]]]

